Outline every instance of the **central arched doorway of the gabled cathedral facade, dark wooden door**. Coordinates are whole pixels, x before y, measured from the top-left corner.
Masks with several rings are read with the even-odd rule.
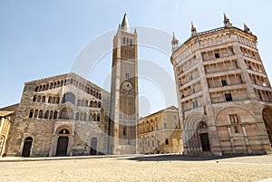
[[[57,149],[56,149],[56,156],[66,156],[67,155],[69,135],[70,135],[70,132],[68,129],[62,129],[59,132]]]

